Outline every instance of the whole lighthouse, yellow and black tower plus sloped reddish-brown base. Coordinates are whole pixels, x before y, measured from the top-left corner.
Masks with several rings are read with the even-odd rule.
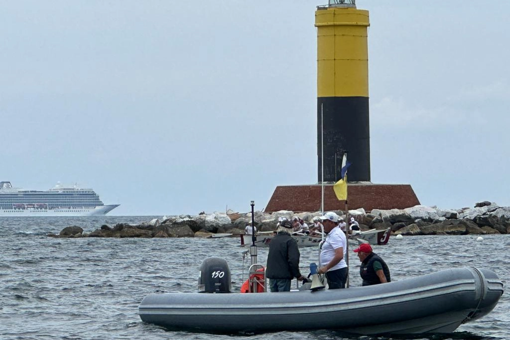
[[[280,185],[265,211],[404,209],[420,204],[409,184],[370,180],[368,111],[368,11],[355,0],[329,0],[317,7],[317,184]],[[351,162],[348,203],[333,183],[343,155]]]

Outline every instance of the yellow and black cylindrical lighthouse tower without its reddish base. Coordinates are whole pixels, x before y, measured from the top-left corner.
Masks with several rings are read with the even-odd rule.
[[[345,152],[348,181],[370,182],[368,11],[355,0],[329,0],[317,7],[315,26],[318,182],[340,179]]]

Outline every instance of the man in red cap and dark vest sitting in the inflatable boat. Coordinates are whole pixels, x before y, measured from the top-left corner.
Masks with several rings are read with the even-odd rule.
[[[354,253],[358,253],[358,258],[361,261],[360,275],[364,286],[391,281],[388,265],[377,254],[372,252],[372,247],[368,243],[364,243],[354,249]]]

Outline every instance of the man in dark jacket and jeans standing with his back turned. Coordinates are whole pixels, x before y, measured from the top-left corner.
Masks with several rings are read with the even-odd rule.
[[[271,292],[290,292],[293,278],[304,280],[299,272],[299,249],[290,236],[291,232],[292,223],[282,221],[276,229],[276,236],[269,243],[266,277],[269,279]]]

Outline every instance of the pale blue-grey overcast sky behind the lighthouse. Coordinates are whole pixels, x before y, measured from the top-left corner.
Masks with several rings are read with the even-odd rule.
[[[0,180],[111,215],[265,208],[317,183],[316,6],[0,0]],[[371,181],[510,206],[510,2],[358,0]]]

